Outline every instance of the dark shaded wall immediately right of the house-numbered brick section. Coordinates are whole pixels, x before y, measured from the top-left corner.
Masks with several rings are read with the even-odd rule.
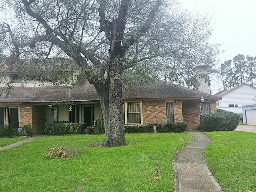
[[[46,115],[46,108],[44,105],[33,106],[33,132],[35,135],[44,134],[44,123]]]

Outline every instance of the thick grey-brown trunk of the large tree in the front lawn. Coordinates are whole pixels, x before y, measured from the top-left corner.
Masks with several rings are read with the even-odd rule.
[[[118,57],[118,56],[117,56]],[[122,82],[116,78],[121,72],[122,62],[119,57],[110,60],[109,78],[106,84],[94,85],[100,97],[104,118],[105,138],[102,146],[125,146],[124,119],[122,112]]]

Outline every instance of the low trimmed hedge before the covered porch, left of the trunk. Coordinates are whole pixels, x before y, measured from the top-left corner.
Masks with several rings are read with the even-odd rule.
[[[47,135],[80,134],[83,123],[46,123],[44,124],[44,133]]]

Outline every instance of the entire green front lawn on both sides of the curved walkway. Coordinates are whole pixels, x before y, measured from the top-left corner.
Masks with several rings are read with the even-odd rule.
[[[256,133],[207,134],[206,162],[223,192],[256,192]],[[172,160],[192,139],[186,133],[128,134],[128,146],[102,148],[103,138],[49,136],[0,151],[0,191],[174,191]],[[46,158],[54,146],[77,155]]]

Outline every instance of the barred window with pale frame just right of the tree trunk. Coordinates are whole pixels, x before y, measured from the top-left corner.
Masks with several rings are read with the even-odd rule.
[[[140,103],[127,103],[128,124],[140,124]]]

